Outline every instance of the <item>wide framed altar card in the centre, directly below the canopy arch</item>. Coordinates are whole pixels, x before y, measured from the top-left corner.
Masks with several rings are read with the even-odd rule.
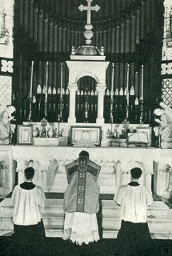
[[[71,144],[90,142],[101,146],[101,126],[71,126]]]

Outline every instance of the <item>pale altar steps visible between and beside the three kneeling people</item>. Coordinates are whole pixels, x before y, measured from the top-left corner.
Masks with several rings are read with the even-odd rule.
[[[0,236],[13,234],[13,205],[11,198],[0,203]],[[101,214],[100,214],[101,215]],[[121,226],[120,208],[113,200],[102,200],[102,238],[116,238]],[[172,239],[172,209],[164,202],[155,201],[147,211],[151,237]],[[63,199],[47,198],[42,210],[46,237],[62,238],[64,225]]]

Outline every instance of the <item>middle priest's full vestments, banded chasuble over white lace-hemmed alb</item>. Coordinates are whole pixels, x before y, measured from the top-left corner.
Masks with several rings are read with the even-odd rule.
[[[100,166],[86,158],[79,158],[66,165],[69,186],[64,195],[65,223],[63,239],[82,245],[98,241]]]

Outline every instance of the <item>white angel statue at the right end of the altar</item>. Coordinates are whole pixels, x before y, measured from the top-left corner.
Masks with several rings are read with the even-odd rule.
[[[155,136],[161,136],[161,147],[163,149],[172,148],[172,109],[164,102],[159,104],[162,109],[154,110],[154,114],[159,116],[154,121],[159,123],[159,126],[154,127]]]

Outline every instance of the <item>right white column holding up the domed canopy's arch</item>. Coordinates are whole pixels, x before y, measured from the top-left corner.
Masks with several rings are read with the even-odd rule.
[[[98,125],[102,125],[105,122],[103,118],[103,110],[104,110],[104,95],[105,95],[106,85],[98,83],[96,86],[96,90],[98,91],[98,117],[96,119],[96,123]]]

